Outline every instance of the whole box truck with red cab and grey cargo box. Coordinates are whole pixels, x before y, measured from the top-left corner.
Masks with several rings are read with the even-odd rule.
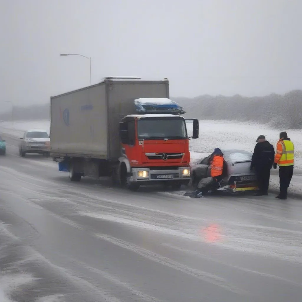
[[[137,108],[146,112],[137,114]],[[169,114],[173,110],[178,113]],[[168,79],[104,78],[50,98],[50,156],[60,171],[69,171],[72,181],[85,175],[112,176],[133,190],[155,181],[179,186],[190,176],[181,111],[169,100]],[[193,124],[197,138],[198,120]]]

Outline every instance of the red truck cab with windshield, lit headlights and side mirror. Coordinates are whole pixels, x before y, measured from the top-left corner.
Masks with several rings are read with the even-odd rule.
[[[198,128],[193,120],[192,138],[198,138]],[[189,137],[182,116],[127,115],[120,122],[120,140],[120,178],[130,188],[156,182],[179,188],[190,181]]]

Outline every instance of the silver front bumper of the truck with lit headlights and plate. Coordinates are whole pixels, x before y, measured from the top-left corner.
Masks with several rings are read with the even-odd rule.
[[[190,168],[180,167],[178,169],[150,170],[149,168],[132,168],[130,182],[156,183],[156,182],[182,182],[190,181]]]

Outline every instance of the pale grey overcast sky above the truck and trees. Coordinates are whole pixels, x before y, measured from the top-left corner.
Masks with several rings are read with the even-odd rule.
[[[301,0],[0,0],[1,108],[104,76],[170,80],[171,96],[302,89]],[[1,109],[0,109],[1,110]]]

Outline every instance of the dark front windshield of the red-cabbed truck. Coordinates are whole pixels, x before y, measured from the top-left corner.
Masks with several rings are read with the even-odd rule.
[[[141,119],[137,121],[137,137],[139,140],[185,139],[186,124],[183,119]]]

